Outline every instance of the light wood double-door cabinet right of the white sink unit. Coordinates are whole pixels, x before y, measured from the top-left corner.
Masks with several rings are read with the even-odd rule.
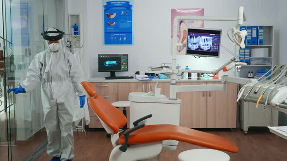
[[[178,85],[221,84],[221,82],[179,82]],[[226,91],[183,92],[180,126],[187,128],[236,128],[236,84]]]

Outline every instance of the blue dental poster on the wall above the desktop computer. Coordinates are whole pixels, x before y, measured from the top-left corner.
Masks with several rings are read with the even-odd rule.
[[[103,0],[104,45],[132,45],[133,0]]]

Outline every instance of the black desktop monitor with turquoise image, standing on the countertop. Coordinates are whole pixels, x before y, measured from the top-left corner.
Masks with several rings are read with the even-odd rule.
[[[99,72],[110,72],[110,77],[128,71],[128,54],[99,54],[98,59]]]

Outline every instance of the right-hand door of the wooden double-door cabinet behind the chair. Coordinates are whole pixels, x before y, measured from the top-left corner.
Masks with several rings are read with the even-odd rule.
[[[221,84],[221,82],[207,82]],[[207,128],[236,128],[236,92],[235,83],[226,83],[226,91],[208,91]]]

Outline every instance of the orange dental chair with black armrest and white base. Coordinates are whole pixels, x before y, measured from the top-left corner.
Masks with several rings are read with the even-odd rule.
[[[151,114],[135,121],[134,128],[120,131],[127,122],[125,115],[105,98],[96,95],[96,89],[90,82],[84,81],[81,85],[88,94],[90,107],[99,117],[105,130],[111,134],[114,148],[109,161],[140,161],[154,158],[160,154],[164,140],[176,140],[217,150],[238,152],[237,145],[232,141],[214,134],[177,125],[140,125],[141,121],[152,117]],[[122,132],[120,136],[119,133]]]

